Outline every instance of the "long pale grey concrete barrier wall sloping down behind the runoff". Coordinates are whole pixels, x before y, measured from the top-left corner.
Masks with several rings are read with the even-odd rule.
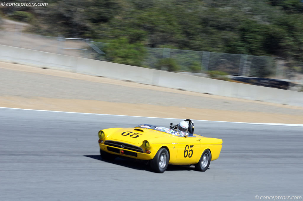
[[[303,93],[0,45],[0,61],[160,87],[303,107]]]

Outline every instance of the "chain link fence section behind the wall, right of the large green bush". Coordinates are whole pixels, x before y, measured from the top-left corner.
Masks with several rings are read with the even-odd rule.
[[[163,58],[176,61],[180,71],[193,72],[193,66],[200,66],[198,72],[222,71],[228,75],[247,77],[285,78],[284,62],[281,58],[227,54],[208,51],[178,50],[169,48],[147,48],[143,66],[155,68]]]

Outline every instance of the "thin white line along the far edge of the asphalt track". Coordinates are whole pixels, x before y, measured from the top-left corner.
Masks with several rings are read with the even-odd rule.
[[[142,116],[129,116],[129,115],[118,115],[118,114],[97,114],[97,113],[84,113],[84,112],[64,112],[64,111],[53,111],[53,110],[32,110],[12,107],[0,107],[2,109],[14,109],[14,110],[30,110],[30,111],[41,111],[41,112],[60,112],[60,113],[71,113],[71,114],[93,114],[93,115],[108,115],[108,116],[120,116],[120,117],[140,117],[140,118],[155,118],[155,119],[176,119],[176,118],[164,118],[164,117],[142,117]],[[250,123],[250,122],[234,122],[234,121],[211,121],[211,120],[197,120],[195,121],[209,121],[209,122],[224,122],[224,123],[237,123],[237,124],[261,124],[261,125],[275,125],[275,126],[300,126],[303,124],[275,124],[275,123]]]

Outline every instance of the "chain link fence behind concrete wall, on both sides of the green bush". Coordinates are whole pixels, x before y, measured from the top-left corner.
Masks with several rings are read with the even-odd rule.
[[[106,61],[103,50],[106,45],[110,45],[89,39],[41,36],[18,31],[0,31],[0,44],[102,61]],[[145,68],[157,68],[157,64],[163,58],[171,58],[177,64],[178,71],[195,72],[195,75],[207,71],[222,71],[235,76],[282,79],[289,77],[281,58],[170,48],[146,48],[146,50],[141,65]]]

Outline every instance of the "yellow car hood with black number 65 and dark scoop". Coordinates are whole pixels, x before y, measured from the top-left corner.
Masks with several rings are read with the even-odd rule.
[[[123,141],[125,143],[139,144],[144,140],[149,140],[156,137],[166,137],[170,134],[151,130],[146,128],[121,128],[115,130],[109,137],[112,140]]]

